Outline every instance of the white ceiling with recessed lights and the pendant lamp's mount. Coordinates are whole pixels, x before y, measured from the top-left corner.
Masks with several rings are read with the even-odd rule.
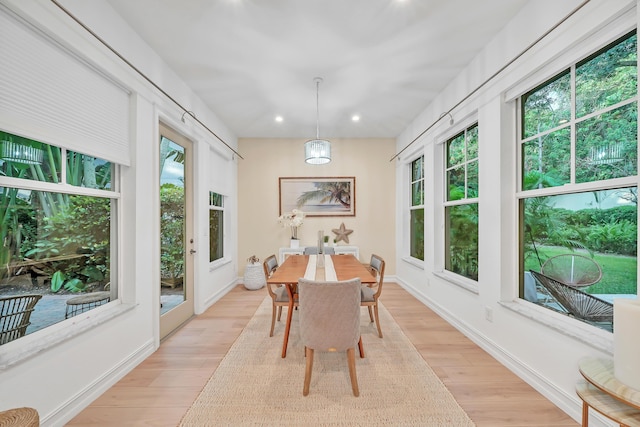
[[[108,2],[238,137],[395,138],[527,0]]]

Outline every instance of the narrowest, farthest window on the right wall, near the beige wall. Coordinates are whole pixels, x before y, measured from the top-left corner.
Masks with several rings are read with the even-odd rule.
[[[409,255],[424,261],[424,156],[411,162]]]

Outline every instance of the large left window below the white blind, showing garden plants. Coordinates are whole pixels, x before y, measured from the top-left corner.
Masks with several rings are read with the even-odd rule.
[[[114,167],[0,131],[0,297],[42,296],[27,334],[116,297]]]

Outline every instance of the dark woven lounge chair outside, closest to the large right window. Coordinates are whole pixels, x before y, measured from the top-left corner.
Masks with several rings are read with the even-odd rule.
[[[565,285],[536,271],[531,275],[558,301],[570,316],[587,323],[606,323],[613,328],[613,304]]]

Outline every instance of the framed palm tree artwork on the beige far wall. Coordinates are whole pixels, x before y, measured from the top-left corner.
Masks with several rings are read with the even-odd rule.
[[[280,213],[300,209],[305,216],[356,216],[356,178],[280,178]]]

